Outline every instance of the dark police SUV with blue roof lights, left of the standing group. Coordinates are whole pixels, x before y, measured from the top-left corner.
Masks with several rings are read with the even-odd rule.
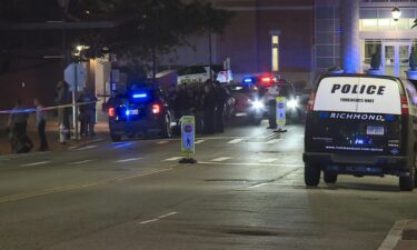
[[[173,111],[158,89],[116,94],[107,102],[107,110],[112,141],[120,141],[123,136],[170,138],[177,129]]]

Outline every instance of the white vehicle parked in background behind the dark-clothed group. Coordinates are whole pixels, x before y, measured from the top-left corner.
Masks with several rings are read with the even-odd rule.
[[[228,83],[234,80],[230,70],[224,70],[222,66],[214,64],[211,67],[212,77],[221,83]],[[190,66],[177,71],[177,83],[196,83],[210,80],[210,66]]]

